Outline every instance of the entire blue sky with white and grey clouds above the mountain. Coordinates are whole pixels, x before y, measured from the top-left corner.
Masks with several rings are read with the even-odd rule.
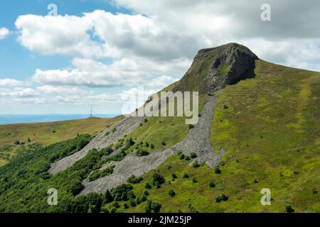
[[[317,0],[0,1],[0,114],[120,114],[230,42],[320,71],[319,21]]]

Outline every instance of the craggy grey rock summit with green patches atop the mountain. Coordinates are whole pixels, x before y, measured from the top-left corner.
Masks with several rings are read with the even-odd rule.
[[[258,57],[238,43],[199,50],[174,91],[214,92],[252,76]]]

